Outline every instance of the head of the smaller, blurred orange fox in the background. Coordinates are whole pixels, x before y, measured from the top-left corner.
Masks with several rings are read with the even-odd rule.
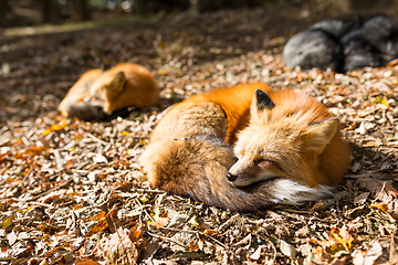
[[[123,72],[115,75],[102,74],[90,88],[90,99],[97,102],[105,114],[112,114],[115,109],[109,103],[123,92],[125,83],[126,77]]]

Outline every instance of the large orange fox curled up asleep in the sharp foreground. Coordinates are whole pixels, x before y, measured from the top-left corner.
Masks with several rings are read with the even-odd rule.
[[[349,165],[349,147],[324,105],[256,83],[177,104],[138,162],[151,188],[250,211],[329,194]]]

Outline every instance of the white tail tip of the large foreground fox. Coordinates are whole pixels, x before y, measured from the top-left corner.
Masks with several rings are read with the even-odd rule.
[[[275,179],[272,195],[274,202],[284,204],[300,204],[305,201],[316,201],[332,195],[332,187],[318,186],[310,188],[291,179]]]

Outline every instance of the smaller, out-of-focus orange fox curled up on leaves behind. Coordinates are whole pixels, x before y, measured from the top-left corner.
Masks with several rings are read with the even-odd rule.
[[[90,70],[71,87],[59,109],[63,116],[102,119],[113,112],[149,107],[159,100],[159,88],[144,66],[121,63],[108,71]]]

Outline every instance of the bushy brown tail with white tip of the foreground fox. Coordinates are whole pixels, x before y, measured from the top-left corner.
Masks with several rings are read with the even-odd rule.
[[[153,187],[234,211],[296,204],[329,194],[328,187],[310,188],[282,178],[235,188],[226,177],[234,162],[230,146],[206,136],[151,142],[139,159]]]

